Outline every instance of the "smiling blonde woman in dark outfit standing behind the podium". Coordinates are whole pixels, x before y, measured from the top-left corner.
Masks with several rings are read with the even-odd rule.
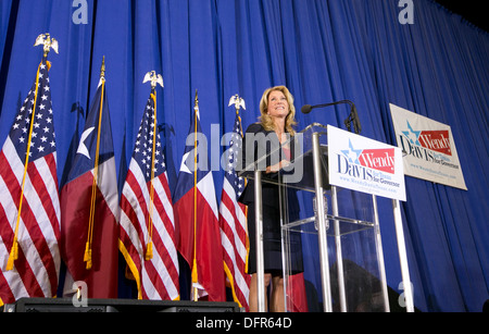
[[[268,180],[277,180],[278,172],[289,166],[294,157],[297,124],[293,97],[285,86],[268,88],[260,102],[260,122],[251,124],[244,135],[242,160],[243,166],[250,163],[263,171],[263,249],[265,286],[271,287],[269,310],[285,311],[284,274],[281,257],[280,205],[279,189]],[[248,157],[247,157],[248,156]],[[289,220],[299,217],[299,205],[294,191],[287,191]],[[254,182],[249,181],[240,201],[248,206],[248,235],[250,237],[250,255],[248,273],[252,275],[250,285],[250,311],[258,311],[256,286],[256,245],[255,245],[255,200]],[[292,274],[303,271],[302,246],[300,235],[291,238]],[[265,297],[266,298],[266,297]],[[265,302],[266,304],[266,302]]]

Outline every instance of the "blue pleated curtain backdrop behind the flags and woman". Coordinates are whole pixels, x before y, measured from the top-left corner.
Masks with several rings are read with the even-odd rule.
[[[264,89],[286,85],[302,104],[350,99],[362,135],[396,145],[389,103],[451,125],[468,191],[406,177],[402,205],[415,306],[423,311],[480,311],[489,298],[489,35],[431,0],[413,1],[403,25],[398,0],[2,0],[0,141],[32,86],[49,32],[60,182],[79,141],[102,57],[115,157],[124,180],[150,87],[162,73],[158,115],[173,189],[184,154],[195,91],[202,129],[230,132],[227,107],[247,101],[243,126],[256,121]],[[80,4],[79,4],[80,3]],[[87,24],[73,14],[86,9]],[[336,111],[336,112],[335,112]],[[298,114],[342,127],[348,111]],[[211,127],[214,124],[213,127]],[[218,134],[216,132],[218,129]],[[214,172],[217,197],[223,172]],[[401,280],[390,200],[379,199],[387,280]],[[402,290],[399,290],[402,293]]]

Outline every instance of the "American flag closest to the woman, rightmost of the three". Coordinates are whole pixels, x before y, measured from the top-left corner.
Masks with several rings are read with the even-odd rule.
[[[220,206],[221,242],[224,253],[224,270],[230,282],[233,296],[241,307],[249,309],[251,276],[247,272],[248,234],[247,208],[238,202],[244,190],[244,178],[236,173],[236,159],[241,150],[241,120],[236,115],[233,138],[227,150],[228,163],[224,176]]]

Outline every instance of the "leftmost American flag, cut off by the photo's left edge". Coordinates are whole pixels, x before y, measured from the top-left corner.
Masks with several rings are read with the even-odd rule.
[[[57,294],[60,199],[49,66],[45,57],[0,152],[0,305]]]

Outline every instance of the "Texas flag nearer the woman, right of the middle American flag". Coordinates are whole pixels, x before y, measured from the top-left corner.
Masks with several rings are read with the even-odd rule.
[[[178,250],[190,265],[192,288],[198,289],[199,296],[225,301],[217,200],[206,145],[199,145],[202,136],[196,106],[187,140],[192,145],[186,146],[174,194]]]

